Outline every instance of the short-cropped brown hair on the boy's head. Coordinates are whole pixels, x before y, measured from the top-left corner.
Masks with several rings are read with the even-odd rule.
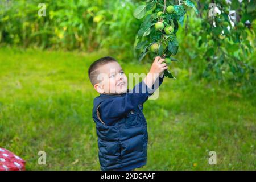
[[[103,65],[105,65],[107,63],[111,63],[111,62],[114,62],[114,61],[118,62],[113,57],[105,56],[105,57],[101,57],[100,59],[94,61],[90,65],[90,67],[88,69],[88,76],[89,76],[90,82],[92,83],[93,86],[98,83],[97,77],[98,77],[98,74],[100,73],[100,71],[97,71],[97,69],[102,67]]]

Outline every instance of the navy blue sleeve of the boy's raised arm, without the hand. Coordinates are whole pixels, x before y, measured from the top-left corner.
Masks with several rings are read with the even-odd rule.
[[[162,84],[163,78],[159,77],[159,84],[157,81],[152,86],[152,89],[144,83],[144,81],[139,82],[135,85],[130,92],[125,94],[123,97],[114,97],[112,99],[105,100],[101,102],[99,111],[102,120],[106,125],[111,124],[113,121],[127,115],[131,110],[135,109],[139,104],[143,104],[148,96],[154,93],[156,89]]]

